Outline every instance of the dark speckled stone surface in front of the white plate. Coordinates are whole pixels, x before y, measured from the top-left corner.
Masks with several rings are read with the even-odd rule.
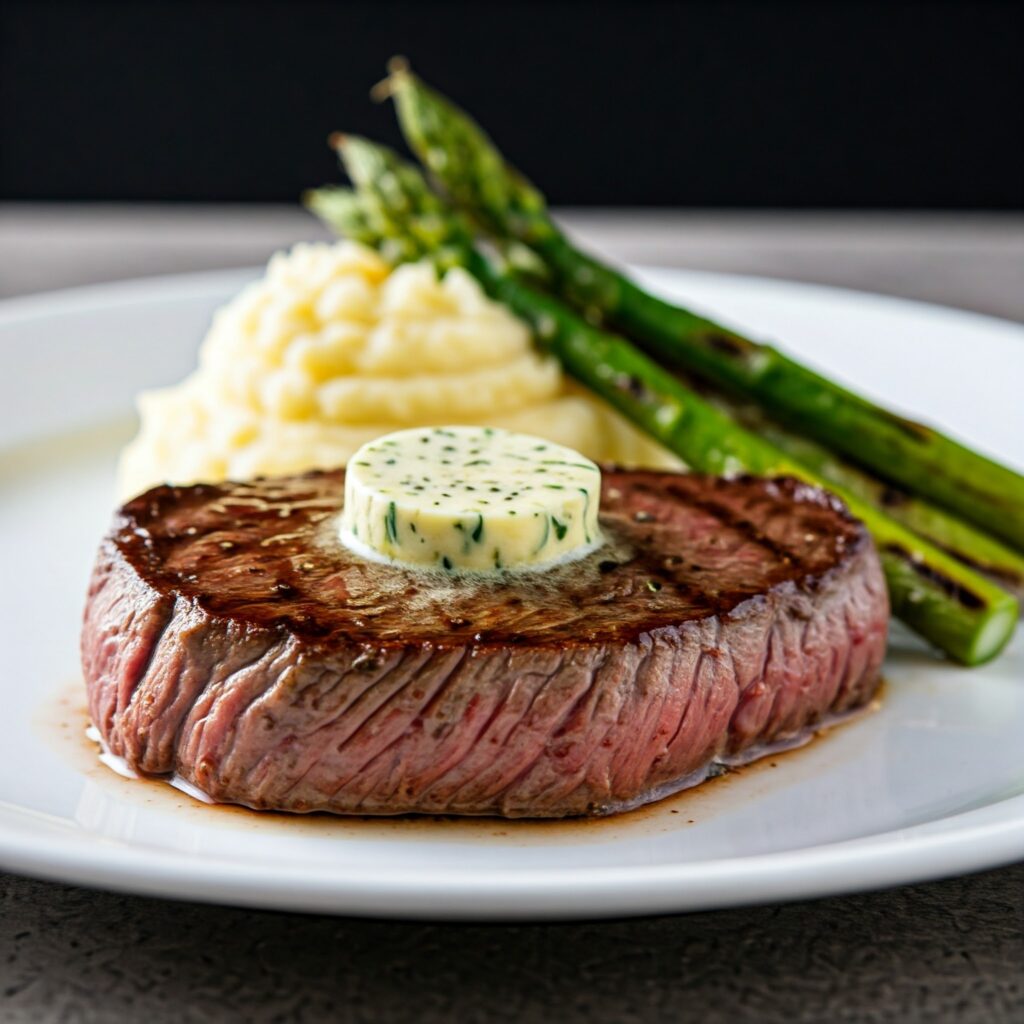
[[[1024,1020],[1024,864],[787,906],[395,924],[0,879],[0,1019]]]

